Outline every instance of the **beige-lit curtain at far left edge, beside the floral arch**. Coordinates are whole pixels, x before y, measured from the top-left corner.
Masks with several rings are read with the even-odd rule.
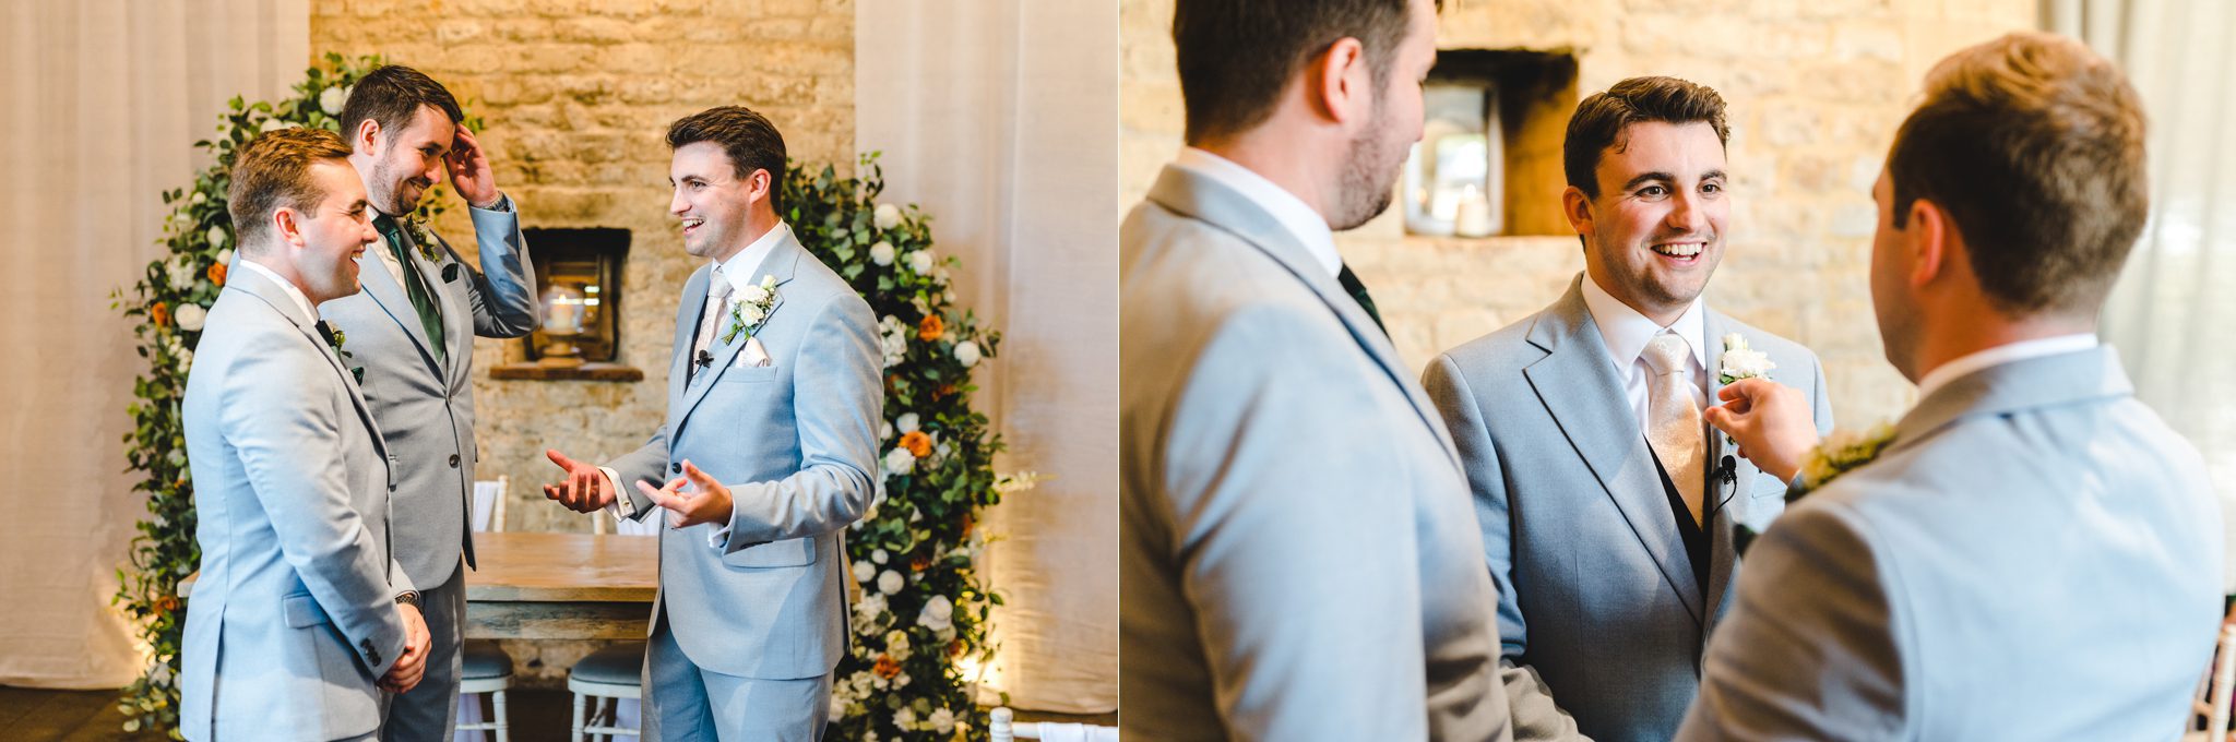
[[[0,9],[0,684],[114,688],[141,673],[110,606],[143,496],[125,405],[143,360],[110,291],[161,248],[235,94],[311,58],[309,0],[9,0]]]

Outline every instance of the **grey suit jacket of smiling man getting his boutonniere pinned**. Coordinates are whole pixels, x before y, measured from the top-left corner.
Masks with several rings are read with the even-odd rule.
[[[1579,275],[1545,311],[1438,355],[1422,387],[1467,463],[1485,563],[1498,583],[1503,662],[1516,738],[1668,740],[1699,688],[1699,655],[1728,603],[1733,525],[1757,532],[1784,510],[1784,483],[1737,458],[1711,429],[1708,583],[1655,469]],[[1825,371],[1809,349],[1706,311],[1708,398],[1722,337],[1778,364],[1831,429]],[[1547,697],[1550,695],[1550,697]],[[1574,731],[1570,720],[1574,717]]]

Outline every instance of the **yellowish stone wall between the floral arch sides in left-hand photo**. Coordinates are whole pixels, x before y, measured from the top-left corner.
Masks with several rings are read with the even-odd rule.
[[[487,369],[521,360],[521,342],[474,344],[476,476],[510,476],[505,527],[588,532],[588,516],[543,498],[539,485],[557,472],[543,449],[610,458],[660,427],[678,293],[698,268],[666,212],[662,134],[736,103],[767,114],[794,159],[852,163],[852,2],[315,0],[311,54],[326,51],[418,67],[481,114],[523,226],[633,232],[619,362],[642,369],[642,382],[496,382]],[[436,230],[472,244],[463,203]],[[588,648],[508,641],[523,682],[539,686],[563,682]]]

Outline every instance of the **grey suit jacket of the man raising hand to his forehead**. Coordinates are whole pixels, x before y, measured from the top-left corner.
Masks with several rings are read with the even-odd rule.
[[[510,199],[510,197],[508,197]],[[510,201],[508,201],[510,203]],[[396,451],[396,559],[420,588],[436,588],[474,563],[467,507],[474,492],[474,335],[521,337],[537,326],[534,268],[517,210],[470,208],[481,241],[474,270],[440,235],[436,261],[420,257],[405,230],[405,259],[434,286],[443,313],[445,360],[436,362],[411,297],[373,250],[358,257],[364,291],[322,304],[349,335],[351,367],[364,369],[364,402]]]

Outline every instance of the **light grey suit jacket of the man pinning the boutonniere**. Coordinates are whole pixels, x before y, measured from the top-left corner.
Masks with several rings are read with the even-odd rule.
[[[2109,346],[1968,373],[1746,552],[1679,738],[2173,740],[2220,548]]]

